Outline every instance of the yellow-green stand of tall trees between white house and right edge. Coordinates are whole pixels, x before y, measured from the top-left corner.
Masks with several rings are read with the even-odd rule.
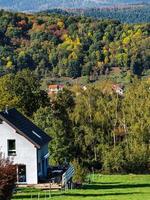
[[[54,163],[66,158],[110,173],[149,170],[150,82],[134,79],[123,96],[110,86],[104,82],[86,90],[71,88],[60,93],[51,108],[35,113],[35,123],[54,139]]]

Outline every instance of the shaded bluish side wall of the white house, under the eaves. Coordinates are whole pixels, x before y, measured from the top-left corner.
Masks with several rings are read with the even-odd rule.
[[[47,176],[48,168],[48,144],[38,149],[38,175],[39,177]]]

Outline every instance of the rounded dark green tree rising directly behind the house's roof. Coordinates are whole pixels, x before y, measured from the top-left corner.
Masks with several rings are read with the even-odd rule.
[[[19,97],[18,106],[29,116],[38,108],[49,104],[47,93],[40,89],[38,78],[30,70],[18,72],[12,88],[14,94]]]

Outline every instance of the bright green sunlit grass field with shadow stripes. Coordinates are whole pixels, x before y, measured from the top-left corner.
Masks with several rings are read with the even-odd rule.
[[[150,175],[92,175],[82,189],[62,192],[22,189],[13,200],[150,200]],[[32,194],[32,198],[31,198]]]

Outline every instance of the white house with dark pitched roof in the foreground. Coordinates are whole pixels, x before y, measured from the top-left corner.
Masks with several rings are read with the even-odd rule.
[[[0,151],[17,166],[17,182],[37,184],[47,176],[51,138],[16,109],[0,112]]]

